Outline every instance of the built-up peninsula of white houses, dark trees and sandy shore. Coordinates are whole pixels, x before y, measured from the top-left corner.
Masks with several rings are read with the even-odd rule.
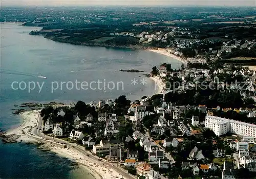
[[[122,95],[26,111],[20,114],[24,123],[5,138],[45,143],[44,148],[88,167],[96,178],[151,177],[153,172],[163,178],[193,177],[197,167],[200,177],[231,172],[253,178],[253,165],[236,165],[245,164],[246,156],[254,162],[255,94],[248,96],[243,84],[234,82],[247,79],[246,89],[254,91],[250,81],[255,71],[220,62],[189,63],[174,70],[164,63],[153,67],[150,76],[160,89],[153,96],[131,101]],[[218,76],[226,83],[216,81]],[[249,133],[237,127],[225,130],[223,124]]]

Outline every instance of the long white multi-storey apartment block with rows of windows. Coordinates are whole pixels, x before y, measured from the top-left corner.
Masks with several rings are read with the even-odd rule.
[[[230,132],[241,136],[256,137],[256,125],[236,120],[207,115],[205,126],[214,131],[217,136]]]

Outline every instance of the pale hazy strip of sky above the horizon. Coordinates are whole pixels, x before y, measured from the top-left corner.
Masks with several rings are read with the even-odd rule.
[[[256,0],[0,0],[2,6],[256,6]]]

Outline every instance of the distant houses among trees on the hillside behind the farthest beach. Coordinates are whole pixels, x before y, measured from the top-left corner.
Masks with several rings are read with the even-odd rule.
[[[182,38],[175,38],[173,41],[168,44],[169,48],[166,48],[167,53],[172,53],[176,56],[183,56],[182,49],[183,48],[191,48],[195,46],[209,46],[205,49],[205,52],[212,58],[216,59],[220,57],[224,52],[231,53],[233,48],[240,48],[240,49],[251,49],[255,46],[255,40],[224,40],[223,45],[220,48],[215,48],[215,45],[219,40],[214,38],[208,38],[207,40],[200,40],[198,38],[197,33],[194,34],[188,28],[181,28],[181,27],[174,27],[170,29],[170,32],[163,33],[162,31],[148,33],[148,32],[141,32],[138,34],[129,33],[129,32],[121,32],[121,33],[110,33],[111,36],[131,36],[139,38],[139,43],[150,43],[153,40],[158,42],[167,43],[168,37],[182,37]],[[226,35],[228,38],[229,35]],[[209,45],[210,44],[210,45]],[[218,45],[219,46],[219,45]],[[198,53],[198,49],[194,49],[196,53],[196,59],[188,58],[188,62],[199,62],[199,63],[206,63],[205,58],[202,58],[201,54]]]

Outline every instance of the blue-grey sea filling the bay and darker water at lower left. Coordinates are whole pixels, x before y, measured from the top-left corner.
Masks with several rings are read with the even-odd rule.
[[[131,100],[152,96],[157,86],[144,74],[162,63],[171,63],[174,69],[182,64],[146,50],[59,43],[29,35],[32,30],[40,28],[0,23],[1,130],[22,123],[11,110],[22,103],[89,103],[120,95]],[[94,178],[87,169],[74,167],[73,161],[35,145],[0,142],[0,154],[0,178]]]

